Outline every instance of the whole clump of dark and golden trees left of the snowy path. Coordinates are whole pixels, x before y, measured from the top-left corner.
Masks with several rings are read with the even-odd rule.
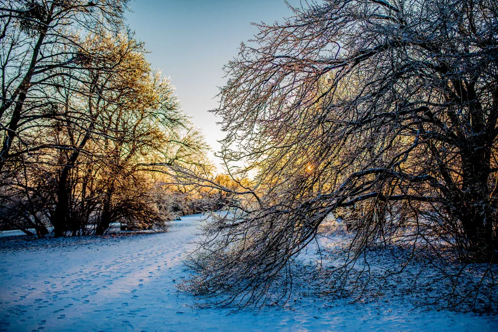
[[[164,227],[181,192],[151,163],[207,148],[123,22],[127,0],[0,0],[0,224],[44,236]]]

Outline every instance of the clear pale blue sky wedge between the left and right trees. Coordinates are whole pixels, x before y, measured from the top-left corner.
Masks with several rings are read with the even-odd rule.
[[[258,32],[251,22],[282,21],[291,10],[284,0],[134,0],[130,9],[127,24],[146,43],[147,60],[170,77],[185,113],[217,151],[224,133],[208,111],[218,107],[223,66]]]

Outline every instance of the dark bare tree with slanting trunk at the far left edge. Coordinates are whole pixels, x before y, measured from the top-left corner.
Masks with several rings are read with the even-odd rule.
[[[70,77],[87,59],[98,57],[84,48],[82,33],[112,33],[122,25],[126,1],[5,0],[2,20],[2,100],[0,123],[4,131],[0,171],[11,154],[20,126],[47,117],[49,107],[37,93],[55,76]],[[77,79],[77,78],[75,78]],[[29,150],[28,142],[24,142]],[[19,152],[17,152],[18,154]]]

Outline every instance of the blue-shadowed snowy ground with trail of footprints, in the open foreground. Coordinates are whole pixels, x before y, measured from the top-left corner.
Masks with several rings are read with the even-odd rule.
[[[498,331],[498,317],[297,297],[292,310],[192,309],[175,285],[199,216],[167,233],[25,241],[0,237],[0,331]]]

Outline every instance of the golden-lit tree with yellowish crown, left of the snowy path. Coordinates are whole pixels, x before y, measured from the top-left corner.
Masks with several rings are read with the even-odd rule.
[[[50,217],[55,235],[101,235],[113,222],[163,229],[172,216],[158,208],[164,193],[141,164],[179,160],[182,149],[202,155],[205,145],[181,137],[191,126],[188,117],[169,81],[151,70],[142,44],[128,34],[88,42],[105,67],[89,59],[81,79],[58,77],[49,98],[63,110],[50,144],[59,147],[60,165]],[[167,157],[172,146],[176,154]]]

